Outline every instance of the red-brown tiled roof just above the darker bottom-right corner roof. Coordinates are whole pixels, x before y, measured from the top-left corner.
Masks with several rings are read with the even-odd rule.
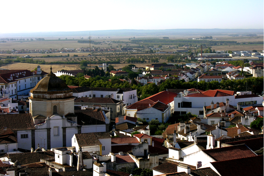
[[[244,157],[255,156],[256,154],[250,150],[246,145],[235,145],[222,148],[213,148],[203,150],[205,154],[210,156],[215,161],[224,161],[228,159],[238,159]]]

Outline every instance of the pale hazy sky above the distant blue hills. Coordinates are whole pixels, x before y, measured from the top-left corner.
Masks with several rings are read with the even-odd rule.
[[[0,33],[264,28],[263,0],[3,0]]]

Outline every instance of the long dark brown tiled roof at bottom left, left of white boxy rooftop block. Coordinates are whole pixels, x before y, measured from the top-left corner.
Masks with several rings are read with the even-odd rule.
[[[11,159],[12,163],[15,163],[16,160],[21,163],[21,165],[37,163],[40,162],[41,158],[54,157],[54,152],[32,152],[32,153],[9,153],[8,157]]]

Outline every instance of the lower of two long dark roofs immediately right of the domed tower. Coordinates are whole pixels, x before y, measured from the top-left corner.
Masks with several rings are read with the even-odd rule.
[[[74,100],[74,103],[121,103],[113,98],[101,98],[101,97],[79,97]]]

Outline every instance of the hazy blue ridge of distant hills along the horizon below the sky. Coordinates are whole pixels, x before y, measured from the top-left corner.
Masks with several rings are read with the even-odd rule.
[[[0,33],[0,37],[55,37],[55,36],[165,36],[187,34],[211,34],[226,35],[227,33],[264,33],[264,29],[164,29],[164,30],[100,30],[100,31],[69,31],[69,32],[23,32],[23,33]]]

